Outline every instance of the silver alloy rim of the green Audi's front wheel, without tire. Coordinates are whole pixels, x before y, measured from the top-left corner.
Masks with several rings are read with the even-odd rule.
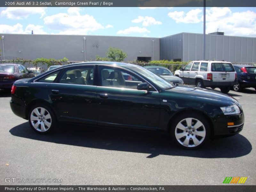
[[[174,129],[175,139],[185,148],[196,148],[206,138],[206,128],[197,118],[186,117],[180,120]]]

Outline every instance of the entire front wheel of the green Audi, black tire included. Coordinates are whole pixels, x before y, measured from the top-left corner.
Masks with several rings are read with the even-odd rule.
[[[188,125],[186,122],[189,118],[191,118],[192,126],[186,126]],[[188,121],[190,121],[190,119]],[[198,122],[199,124],[197,125]],[[200,123],[202,124],[201,126]],[[180,124],[183,125],[182,129],[184,130],[178,128]],[[195,126],[199,127],[196,128]],[[172,141],[176,145],[180,148],[191,150],[202,147],[209,140],[210,126],[204,116],[197,113],[186,113],[175,118],[171,125],[170,134]],[[181,134],[181,136],[178,134]],[[199,134],[201,136],[199,136]],[[186,144],[188,144],[188,146]]]

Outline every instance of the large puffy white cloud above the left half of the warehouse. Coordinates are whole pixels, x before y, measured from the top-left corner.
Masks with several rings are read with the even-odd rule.
[[[44,24],[50,28],[59,30],[59,34],[85,35],[90,31],[104,29],[93,16],[80,14],[80,8],[71,7],[68,14],[58,13],[44,18]]]

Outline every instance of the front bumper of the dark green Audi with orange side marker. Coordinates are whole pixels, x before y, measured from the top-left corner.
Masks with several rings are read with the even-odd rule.
[[[228,123],[234,125],[228,126]],[[214,122],[214,136],[232,136],[243,130],[244,126],[244,113],[236,115],[223,115],[218,117]]]

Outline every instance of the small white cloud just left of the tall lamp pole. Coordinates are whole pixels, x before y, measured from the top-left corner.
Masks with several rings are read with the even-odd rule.
[[[199,23],[201,19],[199,19],[199,13],[201,13],[201,9],[192,9],[185,14],[184,11],[174,11],[169,12],[168,16],[176,21],[176,23]]]

